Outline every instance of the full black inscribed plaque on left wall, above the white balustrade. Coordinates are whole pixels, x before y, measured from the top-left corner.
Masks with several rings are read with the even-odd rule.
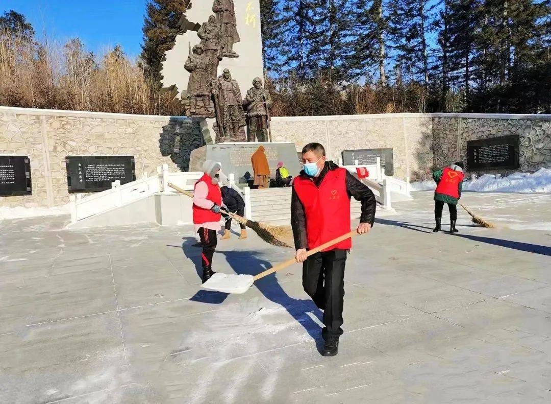
[[[71,156],[65,164],[70,194],[101,192],[116,180],[121,185],[136,180],[133,156]]]

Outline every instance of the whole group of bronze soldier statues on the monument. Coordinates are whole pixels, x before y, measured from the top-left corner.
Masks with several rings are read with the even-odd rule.
[[[201,41],[193,48],[190,44],[190,55],[184,65],[190,72],[187,91],[182,94],[186,115],[216,118],[217,143],[271,141],[272,98],[262,87],[262,79],[253,79],[243,99],[239,83],[231,77],[229,69],[224,69],[217,77],[219,63],[224,57],[239,57],[233,49],[241,40],[233,0],[215,0],[213,12],[197,31]],[[245,134],[247,123],[249,132]]]

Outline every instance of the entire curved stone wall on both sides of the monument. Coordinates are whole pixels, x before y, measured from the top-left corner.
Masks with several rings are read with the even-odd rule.
[[[204,121],[181,117],[0,107],[0,154],[29,156],[33,178],[33,195],[0,198],[0,206],[66,204],[68,155],[132,155],[137,177],[165,163],[170,171],[186,170],[206,130]],[[294,142],[298,151],[320,142],[335,161],[347,149],[392,147],[395,176],[411,180],[430,178],[434,164],[463,158],[468,140],[518,134],[521,170],[551,168],[551,115],[274,117],[272,133],[274,141]]]

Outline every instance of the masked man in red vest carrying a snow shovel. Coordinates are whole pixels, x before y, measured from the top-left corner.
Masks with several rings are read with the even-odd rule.
[[[371,190],[347,169],[327,161],[320,143],[302,149],[304,171],[293,182],[291,226],[296,261],[302,262],[302,286],[317,307],[323,310],[322,355],[338,352],[343,330],[344,264],[352,248],[349,238],[306,258],[316,248],[350,231],[350,197],[361,202],[358,233],[370,231],[375,221],[376,201]]]

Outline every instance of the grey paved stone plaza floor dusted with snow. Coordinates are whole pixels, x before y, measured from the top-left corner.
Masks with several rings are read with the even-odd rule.
[[[300,267],[204,293],[191,228],[1,222],[0,402],[549,403],[551,195],[463,201],[501,226],[460,212],[459,235],[435,235],[423,192],[356,240],[335,358]],[[215,264],[289,254],[234,237]]]

